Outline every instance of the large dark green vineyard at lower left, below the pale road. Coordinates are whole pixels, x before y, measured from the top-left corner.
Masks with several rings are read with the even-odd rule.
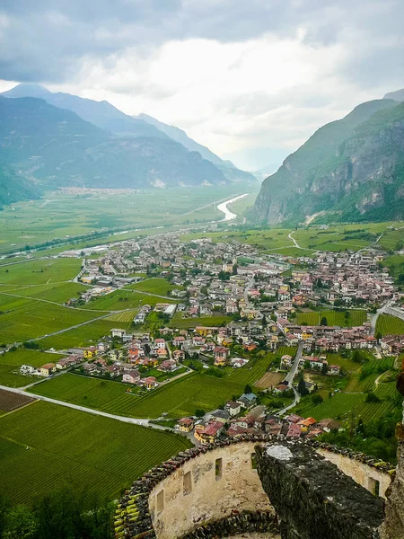
[[[0,417],[2,494],[31,505],[61,482],[117,499],[155,464],[190,446],[180,435],[35,402]]]

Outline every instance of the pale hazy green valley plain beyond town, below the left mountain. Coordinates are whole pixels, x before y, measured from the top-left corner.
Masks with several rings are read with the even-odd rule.
[[[223,213],[217,210],[216,202],[239,194],[232,186],[133,190],[108,197],[101,191],[79,195],[47,192],[43,199],[4,208],[0,216],[0,254],[55,239],[73,242],[75,236],[94,232],[109,236],[111,229],[125,229],[126,234],[115,232],[119,241],[131,237],[130,228],[220,219]],[[100,237],[96,242],[101,243]]]

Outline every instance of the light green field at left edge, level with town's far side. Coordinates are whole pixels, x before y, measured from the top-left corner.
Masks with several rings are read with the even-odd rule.
[[[78,259],[40,259],[0,268],[1,285],[42,285],[74,278],[80,271]]]

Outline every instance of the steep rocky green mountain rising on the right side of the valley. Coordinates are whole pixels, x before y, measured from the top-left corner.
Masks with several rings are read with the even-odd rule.
[[[262,184],[250,218],[296,224],[404,215],[404,104],[365,102],[318,129]],[[324,218],[327,218],[324,217]]]

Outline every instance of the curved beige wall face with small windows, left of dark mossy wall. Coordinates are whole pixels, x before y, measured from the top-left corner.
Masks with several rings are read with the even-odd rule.
[[[268,496],[253,468],[254,442],[207,451],[185,462],[149,496],[159,539],[186,535],[193,528],[229,517],[234,511],[270,511]]]

